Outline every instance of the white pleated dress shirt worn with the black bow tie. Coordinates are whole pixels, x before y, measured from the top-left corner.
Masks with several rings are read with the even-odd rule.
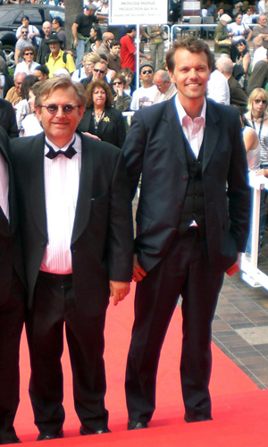
[[[59,155],[53,160],[46,157],[45,145],[45,195],[46,228],[48,242],[41,268],[43,272],[71,274],[71,234],[73,229],[80,184],[81,139],[75,134],[73,148],[77,154],[71,159]],[[59,150],[49,139],[48,144]],[[66,150],[73,138],[61,150]]]

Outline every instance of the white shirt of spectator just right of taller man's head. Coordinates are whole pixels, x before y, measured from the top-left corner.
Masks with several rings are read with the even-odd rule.
[[[228,80],[219,70],[214,70],[210,75],[206,86],[206,97],[214,99],[218,104],[230,105]]]

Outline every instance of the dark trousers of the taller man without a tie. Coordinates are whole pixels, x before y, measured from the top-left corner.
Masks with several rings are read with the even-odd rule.
[[[223,275],[212,273],[205,239],[177,237],[166,257],[137,283],[135,321],[126,372],[131,420],[148,422],[155,410],[155,380],[165,333],[182,297],[180,381],[189,417],[211,417],[211,324]],[[176,366],[175,366],[176,367]]]

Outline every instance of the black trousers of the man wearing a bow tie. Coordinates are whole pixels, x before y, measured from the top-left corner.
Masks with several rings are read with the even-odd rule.
[[[90,318],[77,311],[71,274],[40,272],[34,305],[27,316],[31,365],[29,396],[35,424],[41,434],[54,434],[63,426],[61,357],[64,324],[71,358],[76,412],[81,424],[88,429],[105,429],[108,420],[103,358],[105,313]]]

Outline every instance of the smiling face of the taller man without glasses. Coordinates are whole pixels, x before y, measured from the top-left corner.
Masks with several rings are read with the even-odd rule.
[[[179,48],[174,55],[174,62],[174,71],[169,73],[177,86],[180,103],[183,105],[189,99],[204,99],[210,77],[205,52],[191,53]]]

